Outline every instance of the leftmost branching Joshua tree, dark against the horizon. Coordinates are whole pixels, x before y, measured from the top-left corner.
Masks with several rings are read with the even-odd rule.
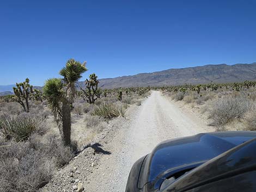
[[[16,101],[21,104],[25,112],[29,112],[28,100],[30,95],[33,93],[33,85],[29,84],[29,79],[26,78],[23,83],[16,83],[16,88],[13,88],[14,94],[16,95]],[[25,103],[26,104],[25,104]]]

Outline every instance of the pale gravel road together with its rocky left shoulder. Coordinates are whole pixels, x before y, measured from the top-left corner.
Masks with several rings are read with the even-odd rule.
[[[123,192],[131,166],[161,141],[214,131],[196,113],[153,91],[142,106],[132,106],[126,117],[109,123],[95,143],[60,169],[42,191]]]

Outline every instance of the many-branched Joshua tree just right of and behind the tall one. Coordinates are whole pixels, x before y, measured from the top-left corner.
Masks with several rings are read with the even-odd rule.
[[[97,80],[97,76],[95,73],[89,76],[89,80],[86,79],[86,90],[80,88],[85,96],[85,99],[88,103],[94,103],[97,98],[100,97],[100,89],[98,89],[99,80]]]

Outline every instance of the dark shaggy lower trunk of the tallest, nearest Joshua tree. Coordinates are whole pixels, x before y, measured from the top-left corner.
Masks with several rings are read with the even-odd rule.
[[[71,132],[71,116],[70,116],[71,108],[70,103],[68,101],[64,101],[62,105],[62,140],[64,145],[70,146],[70,132]]]

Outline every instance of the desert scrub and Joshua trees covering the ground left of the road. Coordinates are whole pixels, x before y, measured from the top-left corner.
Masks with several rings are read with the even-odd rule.
[[[14,95],[0,97],[0,191],[38,191],[111,119],[149,95],[150,88],[99,89],[94,73],[79,88],[86,71],[86,63],[70,59],[63,78],[46,80],[42,90],[27,78]]]

